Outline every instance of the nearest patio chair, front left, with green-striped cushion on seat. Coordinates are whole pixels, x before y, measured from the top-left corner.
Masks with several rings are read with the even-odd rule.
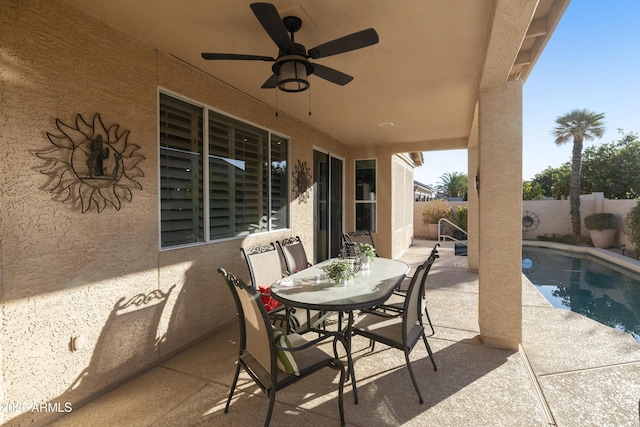
[[[260,303],[260,295],[255,287],[248,286],[223,268],[219,268],[218,272],[229,286],[240,321],[240,352],[224,412],[229,412],[241,368],[269,396],[269,409],[264,422],[267,427],[271,422],[276,393],[279,390],[329,367],[340,371],[338,409],[340,423],[344,426],[345,368],[342,361],[320,350],[316,346],[320,340],[307,341],[301,335],[284,335],[275,329],[269,323],[267,312]]]

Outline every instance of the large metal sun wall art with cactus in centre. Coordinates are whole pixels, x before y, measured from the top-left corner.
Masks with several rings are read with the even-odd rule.
[[[138,163],[144,160],[136,154],[140,148],[129,144],[130,131],[119,132],[119,125],[106,128],[100,114],[93,116],[91,123],[80,114],[75,126],[56,119],[60,133],[47,132],[54,148],[37,152],[46,163],[40,172],[49,177],[45,189],[54,200],[71,203],[87,212],[92,204],[98,212],[112,205],[120,210],[121,202],[131,202],[132,188],[142,190],[136,178],[144,176]]]

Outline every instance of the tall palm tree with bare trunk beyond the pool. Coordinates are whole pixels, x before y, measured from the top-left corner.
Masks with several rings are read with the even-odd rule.
[[[594,113],[585,109],[576,109],[556,119],[556,127],[551,134],[555,143],[562,145],[573,140],[571,156],[571,183],[569,187],[569,205],[573,234],[580,237],[580,165],[582,162],[582,143],[604,135],[604,113]]]

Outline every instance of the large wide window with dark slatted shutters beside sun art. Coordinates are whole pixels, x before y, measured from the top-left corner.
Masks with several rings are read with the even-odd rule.
[[[161,246],[287,228],[288,155],[282,136],[162,93]]]

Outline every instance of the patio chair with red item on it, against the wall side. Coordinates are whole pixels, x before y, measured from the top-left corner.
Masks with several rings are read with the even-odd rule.
[[[309,310],[296,310],[281,305],[270,293],[271,284],[283,278],[280,254],[273,243],[253,245],[247,249],[240,248],[249,268],[251,283],[260,292],[262,302],[274,321],[286,322],[289,331],[301,328],[305,323],[311,326],[311,318],[318,313]]]

